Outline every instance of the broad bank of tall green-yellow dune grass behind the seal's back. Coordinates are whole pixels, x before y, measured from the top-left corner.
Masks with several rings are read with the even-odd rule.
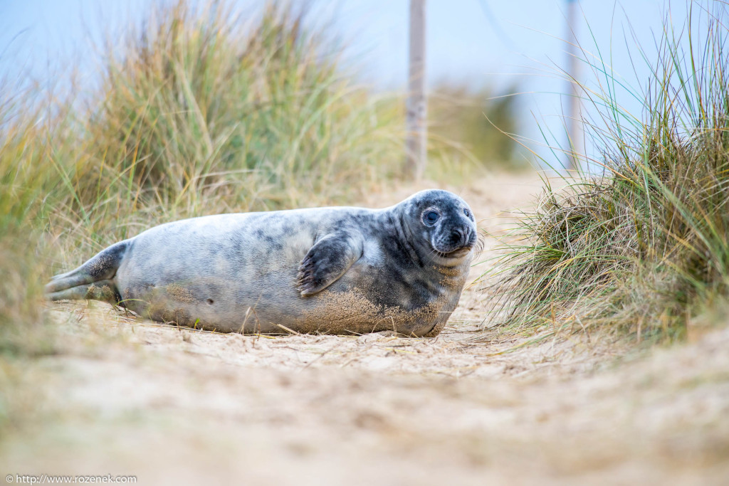
[[[399,173],[401,110],[352,82],[304,14],[191,5],[161,7],[110,45],[82,101],[8,93],[1,157],[14,189],[0,204],[17,221],[31,225],[21,209],[42,205],[32,226],[92,251],[139,224],[331,203]]]

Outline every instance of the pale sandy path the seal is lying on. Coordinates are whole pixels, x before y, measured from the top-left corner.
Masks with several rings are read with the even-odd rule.
[[[453,189],[498,234],[491,216],[538,187],[494,176]],[[468,342],[483,300],[475,286],[464,292],[435,339],[244,337],[138,322],[100,303],[55,305],[63,352],[23,371],[37,393],[0,442],[0,473],[727,484],[729,329],[620,362],[580,339],[497,354],[520,338],[492,331],[490,342]]]

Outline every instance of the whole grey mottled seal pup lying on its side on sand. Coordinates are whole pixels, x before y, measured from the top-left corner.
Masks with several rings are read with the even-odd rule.
[[[440,333],[480,251],[475,219],[429,189],[383,209],[232,213],[161,224],[52,278],[97,299],[219,332]]]

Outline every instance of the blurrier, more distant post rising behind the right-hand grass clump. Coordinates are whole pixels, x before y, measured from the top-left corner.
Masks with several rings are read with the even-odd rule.
[[[580,115],[580,60],[577,57],[577,0],[567,0],[567,77],[569,89],[567,90],[567,137],[569,154],[567,154],[567,168],[570,170],[580,168],[580,154],[585,151],[584,135],[582,133],[582,119]]]

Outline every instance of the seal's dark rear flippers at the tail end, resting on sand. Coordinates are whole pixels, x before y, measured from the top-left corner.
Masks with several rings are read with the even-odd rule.
[[[130,240],[120,241],[100,251],[76,270],[56,275],[45,286],[51,300],[96,299],[112,301],[118,292],[112,278],[124,259]],[[104,290],[104,288],[108,290]]]

